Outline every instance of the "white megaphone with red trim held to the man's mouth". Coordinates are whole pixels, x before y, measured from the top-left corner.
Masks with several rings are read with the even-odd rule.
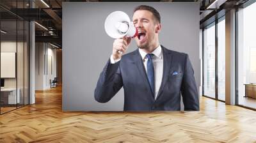
[[[135,38],[138,30],[134,27],[129,16],[123,11],[113,11],[105,20],[105,31],[112,38],[128,36]]]

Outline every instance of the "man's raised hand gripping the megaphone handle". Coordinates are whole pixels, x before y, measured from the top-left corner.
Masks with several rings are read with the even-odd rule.
[[[120,59],[131,43],[131,37],[116,39],[113,43],[113,59]]]

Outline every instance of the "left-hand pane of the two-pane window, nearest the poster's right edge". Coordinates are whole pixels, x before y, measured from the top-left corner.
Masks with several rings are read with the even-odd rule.
[[[215,25],[204,29],[204,95],[215,98]]]

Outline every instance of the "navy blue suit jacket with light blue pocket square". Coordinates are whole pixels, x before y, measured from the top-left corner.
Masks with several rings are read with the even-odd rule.
[[[108,63],[100,73],[94,97],[105,103],[124,87],[124,110],[180,110],[180,93],[184,110],[199,110],[198,91],[188,54],[163,49],[163,79],[154,100],[139,50]]]

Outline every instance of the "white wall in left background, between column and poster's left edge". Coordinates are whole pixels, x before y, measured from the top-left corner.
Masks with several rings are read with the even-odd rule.
[[[36,43],[35,47],[35,90],[49,89],[50,79],[56,77],[56,49],[49,43]]]

